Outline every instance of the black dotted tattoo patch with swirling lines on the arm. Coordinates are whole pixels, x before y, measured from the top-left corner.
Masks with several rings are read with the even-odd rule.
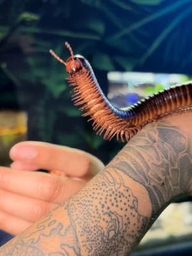
[[[91,195],[90,188],[94,191]],[[98,176],[91,187],[84,188],[81,196],[72,198],[66,208],[76,223],[86,255],[125,255],[143,234],[148,221],[138,212],[136,196],[111,168]]]

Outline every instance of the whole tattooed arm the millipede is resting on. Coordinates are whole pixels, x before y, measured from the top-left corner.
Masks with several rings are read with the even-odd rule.
[[[163,209],[192,194],[192,114],[148,124],[86,186],[1,255],[127,255]]]

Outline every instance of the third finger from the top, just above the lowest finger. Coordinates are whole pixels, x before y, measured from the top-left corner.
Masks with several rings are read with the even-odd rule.
[[[39,220],[57,205],[0,189],[0,211],[29,222]]]

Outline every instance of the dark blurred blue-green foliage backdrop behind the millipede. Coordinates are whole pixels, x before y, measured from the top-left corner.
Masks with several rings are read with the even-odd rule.
[[[0,0],[0,106],[28,112],[29,140],[83,148],[108,161],[122,147],[96,136],[72,106],[64,60],[70,42],[107,72],[191,74],[191,0]]]

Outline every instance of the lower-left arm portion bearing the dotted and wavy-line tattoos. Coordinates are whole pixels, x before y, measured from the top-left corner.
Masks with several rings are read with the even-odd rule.
[[[16,247],[13,243],[9,255],[125,255],[145,232],[148,217],[140,214],[138,197],[124,183],[122,175],[107,168],[61,206],[65,225],[56,210],[20,237]]]

